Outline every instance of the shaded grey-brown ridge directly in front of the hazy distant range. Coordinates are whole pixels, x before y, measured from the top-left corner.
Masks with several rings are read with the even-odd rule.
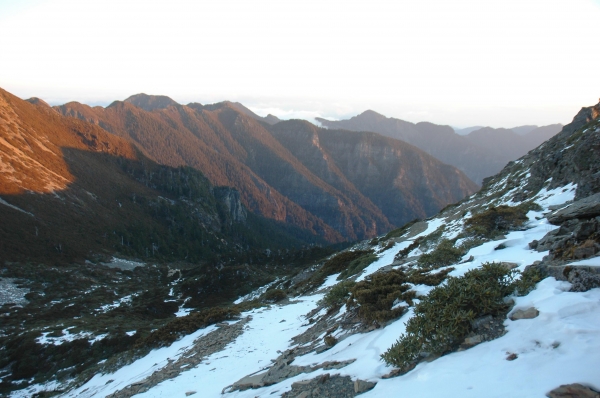
[[[394,225],[433,214],[477,186],[459,170],[402,141],[375,133],[327,130],[304,121],[272,131],[311,171],[356,201],[382,209]]]

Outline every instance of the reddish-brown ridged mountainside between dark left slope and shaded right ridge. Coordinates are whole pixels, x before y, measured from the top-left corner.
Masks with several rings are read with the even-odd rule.
[[[57,109],[90,120],[91,108],[85,113],[81,107]],[[258,214],[322,231],[333,242],[340,240],[340,232],[357,239],[391,228],[378,209],[363,215],[343,193],[312,175],[261,123],[227,103],[212,111],[177,105],[146,112],[115,102],[100,116],[99,125],[133,140],[159,163],[186,164],[215,185],[235,186],[244,204]]]

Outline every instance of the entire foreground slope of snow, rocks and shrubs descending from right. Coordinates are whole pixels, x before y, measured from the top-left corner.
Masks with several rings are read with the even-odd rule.
[[[598,396],[599,116],[582,109],[433,218],[265,278],[235,316],[194,323],[183,306],[193,332],[161,329],[162,348],[12,396]]]

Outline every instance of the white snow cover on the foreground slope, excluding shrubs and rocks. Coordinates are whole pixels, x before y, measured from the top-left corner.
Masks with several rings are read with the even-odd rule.
[[[469,248],[462,259],[452,264],[449,276],[460,277],[489,262],[508,264],[510,268],[524,271],[529,265],[548,260],[548,251],[532,249],[530,243],[560,228],[550,224],[545,215],[550,208],[568,206],[574,199],[575,189],[576,186],[569,185],[541,191],[534,198],[540,207],[527,212],[527,221],[519,230]],[[442,228],[440,234],[440,227],[452,225],[452,214],[442,213],[426,221],[426,228],[420,233],[411,234],[408,229],[350,279],[360,282],[376,273],[410,266],[418,260],[419,255],[415,253],[420,250],[411,252],[408,262],[399,261],[398,253],[419,238],[427,239],[437,233],[434,238],[438,241],[455,239],[458,233],[450,227]],[[423,229],[423,225],[418,227]],[[448,230],[454,232],[448,233]],[[434,247],[435,242],[430,243],[428,249],[420,252],[431,252]],[[567,261],[563,269],[577,264],[596,267],[600,260]],[[349,394],[346,396],[389,397],[402,391],[407,396],[420,397],[543,397],[563,384],[582,383],[600,389],[597,374],[600,357],[590,355],[600,350],[599,288],[572,292],[570,282],[547,277],[529,294],[511,297],[513,306],[503,322],[503,335],[430,362],[421,361],[409,372],[390,377],[394,368],[382,361],[381,354],[405,332],[413,307],[399,319],[375,328],[363,328],[360,332],[343,327],[327,330],[336,322],[342,323],[351,312],[345,305],[333,312],[322,306],[324,294],[339,282],[338,275],[325,278],[325,282],[313,290],[319,293],[244,312],[237,321],[201,329],[114,373],[97,374],[65,396],[291,397],[304,394],[302,396],[308,397],[324,396],[328,389],[339,393],[346,388]],[[432,287],[413,285],[413,289],[419,295],[426,295]],[[325,330],[313,330],[322,320]],[[222,333],[219,337],[222,349],[186,362],[186,358],[198,356],[206,345],[215,344],[207,339],[211,334],[236,324],[240,325],[239,333],[235,336]],[[312,337],[311,341],[299,338],[307,335]],[[328,335],[335,339],[332,346],[323,341]],[[270,382],[265,382],[267,374]]]

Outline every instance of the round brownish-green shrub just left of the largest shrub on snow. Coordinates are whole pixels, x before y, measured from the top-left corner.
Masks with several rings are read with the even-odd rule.
[[[407,276],[401,270],[371,275],[367,280],[358,282],[351,290],[349,308],[358,308],[358,317],[364,323],[386,322],[398,318],[405,308],[392,309],[396,300],[412,305],[414,291],[409,291]]]

